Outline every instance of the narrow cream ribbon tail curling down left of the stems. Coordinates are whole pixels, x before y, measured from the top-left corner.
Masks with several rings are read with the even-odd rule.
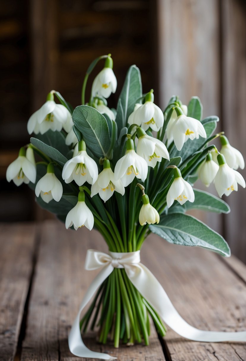
[[[112,357],[107,353],[95,352],[91,351],[88,347],[83,343],[79,322],[80,322],[80,314],[84,307],[88,304],[88,302],[92,299],[98,287],[101,286],[102,282],[112,273],[113,266],[111,264],[105,266],[100,273],[93,279],[90,284],[87,292],[84,295],[82,303],[80,304],[79,312],[75,318],[71,331],[68,337],[69,349],[71,353],[75,356],[79,357],[87,357],[87,358],[99,358],[101,360],[115,360],[116,357]]]

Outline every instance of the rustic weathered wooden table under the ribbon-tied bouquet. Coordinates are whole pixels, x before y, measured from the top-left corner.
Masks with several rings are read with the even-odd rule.
[[[66,230],[62,223],[0,226],[0,360],[78,361],[67,335],[95,272],[83,269],[88,248],[106,251],[96,231]],[[141,261],[159,279],[181,316],[204,330],[246,329],[246,266],[199,248],[168,244],[150,236]],[[246,360],[246,343],[202,343],[168,330],[150,346],[97,344],[120,361]]]

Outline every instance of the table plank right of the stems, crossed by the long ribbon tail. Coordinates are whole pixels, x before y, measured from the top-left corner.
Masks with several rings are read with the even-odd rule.
[[[146,257],[148,255],[148,257]],[[192,326],[214,331],[246,329],[246,286],[212,252],[171,245],[153,236],[142,249],[142,262],[157,276],[173,305]],[[240,272],[246,274],[246,266]],[[243,343],[202,343],[168,330],[170,360],[246,360]]]

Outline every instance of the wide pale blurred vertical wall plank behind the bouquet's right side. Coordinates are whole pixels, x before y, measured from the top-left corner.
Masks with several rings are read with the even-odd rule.
[[[196,95],[204,117],[220,116],[218,1],[157,0],[157,15],[162,109],[172,95],[178,95],[183,104]],[[196,187],[205,190],[199,182]],[[209,191],[216,195],[213,186]],[[223,231],[220,215],[196,211],[196,217],[217,232]]]

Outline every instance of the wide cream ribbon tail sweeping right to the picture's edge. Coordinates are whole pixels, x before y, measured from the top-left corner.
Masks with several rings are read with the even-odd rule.
[[[125,265],[128,278],[142,296],[154,307],[163,321],[180,336],[200,342],[246,342],[246,331],[203,331],[189,325],[177,312],[155,276],[143,264]]]

